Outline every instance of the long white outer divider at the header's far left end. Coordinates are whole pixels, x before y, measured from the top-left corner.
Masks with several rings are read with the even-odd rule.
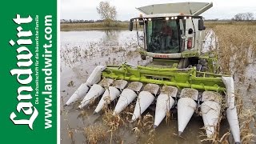
[[[78,87],[78,90],[75,90],[74,94],[70,97],[70,99],[66,102],[65,106],[69,106],[70,103],[76,102],[78,99],[84,97],[90,86],[101,80],[102,71],[106,69],[106,66],[96,66],[94,71],[90,74],[90,77],[87,79],[86,83],[82,83],[81,86]]]

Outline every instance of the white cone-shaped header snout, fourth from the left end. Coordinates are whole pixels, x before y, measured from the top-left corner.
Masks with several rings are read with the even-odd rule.
[[[125,90],[122,90],[118,103],[114,108],[113,115],[121,113],[130,102],[133,102],[134,99],[138,97],[136,92],[142,90],[142,86],[141,82],[130,82],[129,86]]]

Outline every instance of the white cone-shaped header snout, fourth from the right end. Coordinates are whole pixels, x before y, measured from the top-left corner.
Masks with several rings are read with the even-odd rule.
[[[158,95],[157,104],[154,115],[154,128],[159,126],[162,119],[166,117],[166,113],[174,106],[174,98],[178,92],[177,87],[174,86],[163,86],[162,92]]]

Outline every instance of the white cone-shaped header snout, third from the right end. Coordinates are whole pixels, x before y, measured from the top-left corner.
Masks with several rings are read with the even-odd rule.
[[[195,100],[198,100],[198,90],[184,88],[178,100],[178,136],[185,130],[186,125],[194,114],[197,107]]]

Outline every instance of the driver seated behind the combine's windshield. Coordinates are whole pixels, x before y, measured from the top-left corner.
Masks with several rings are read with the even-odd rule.
[[[161,33],[162,33],[161,50],[165,50],[167,47],[170,48],[170,39],[172,36],[172,30],[170,26],[167,25],[166,21],[162,23]]]

